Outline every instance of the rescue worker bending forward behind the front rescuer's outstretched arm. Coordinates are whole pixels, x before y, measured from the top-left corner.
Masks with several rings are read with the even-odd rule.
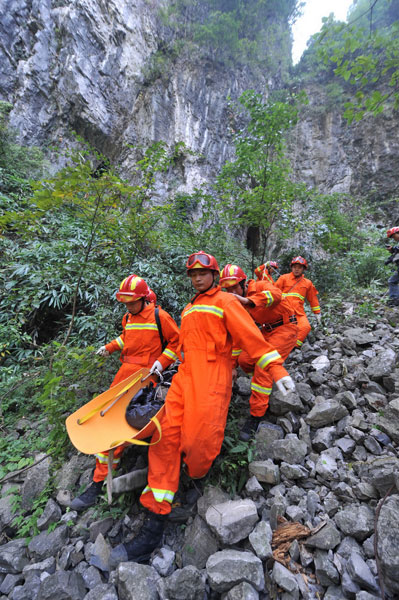
[[[220,272],[219,284],[237,297],[260,326],[265,341],[278,351],[283,362],[294,348],[298,337],[296,317],[290,300],[283,298],[281,290],[267,280],[247,280],[246,274],[238,265],[226,265]],[[243,371],[254,372],[255,360],[248,352],[235,348],[233,358],[238,360]],[[278,372],[281,369],[281,377],[284,377],[282,362],[281,366],[276,365],[275,370]],[[272,385],[273,377],[269,371],[258,371],[254,375],[249,399],[250,415],[240,431],[241,440],[248,441],[256,432],[269,406]]]

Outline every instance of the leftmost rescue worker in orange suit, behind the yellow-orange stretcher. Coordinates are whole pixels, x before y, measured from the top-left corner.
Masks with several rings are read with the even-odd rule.
[[[137,275],[129,275],[120,285],[116,299],[127,308],[122,319],[122,333],[109,344],[97,350],[100,356],[109,356],[119,351],[122,363],[110,387],[132,375],[141,367],[147,367],[152,373],[161,373],[177,360],[179,328],[172,317],[158,307],[162,337],[166,347],[162,350],[160,332],[156,323],[155,304],[148,302],[151,290],[147,283]],[[152,292],[154,294],[154,292]],[[155,296],[155,294],[154,294]],[[112,468],[116,469],[125,446],[117,446],[114,450]],[[95,504],[101,493],[104,479],[108,474],[109,452],[96,454],[96,467],[92,484],[77,498],[72,500],[72,510],[84,510]]]

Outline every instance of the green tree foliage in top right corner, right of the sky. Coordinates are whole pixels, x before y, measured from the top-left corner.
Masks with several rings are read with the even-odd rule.
[[[339,78],[348,123],[399,107],[399,13],[395,3],[356,3],[349,24],[325,19],[299,70]]]

